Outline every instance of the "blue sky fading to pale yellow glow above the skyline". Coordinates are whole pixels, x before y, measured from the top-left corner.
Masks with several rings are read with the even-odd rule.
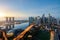
[[[60,0],[0,0],[0,14],[5,16],[48,16],[49,13],[60,17]]]

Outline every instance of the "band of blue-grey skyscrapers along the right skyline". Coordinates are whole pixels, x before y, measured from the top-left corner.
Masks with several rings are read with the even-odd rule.
[[[45,17],[45,14],[42,15],[42,17],[37,16],[37,17],[29,17],[29,25],[30,24],[36,24],[36,25],[51,25],[51,24],[56,24],[60,25],[60,19],[56,19],[52,17],[50,14],[48,17]]]

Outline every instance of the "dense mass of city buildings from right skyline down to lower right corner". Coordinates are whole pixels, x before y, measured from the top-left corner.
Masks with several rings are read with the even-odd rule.
[[[51,33],[54,31],[54,40],[60,40],[58,39],[60,36],[60,19],[55,18],[49,14],[48,17],[45,17],[45,14],[42,15],[42,17],[29,17],[29,25],[35,24],[38,28],[43,30],[50,30]],[[53,38],[51,39],[53,40]]]

